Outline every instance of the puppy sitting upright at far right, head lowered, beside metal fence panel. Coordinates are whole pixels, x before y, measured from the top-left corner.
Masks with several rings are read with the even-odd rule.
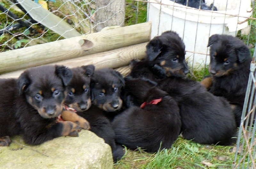
[[[201,81],[209,92],[225,97],[234,109],[239,127],[250,73],[251,53],[244,42],[230,35],[209,38],[210,76]]]

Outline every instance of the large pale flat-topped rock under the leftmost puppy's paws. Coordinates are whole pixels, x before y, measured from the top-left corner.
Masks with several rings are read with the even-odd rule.
[[[0,168],[113,168],[111,148],[91,131],[79,137],[59,137],[38,146],[12,138],[8,147],[0,146]]]

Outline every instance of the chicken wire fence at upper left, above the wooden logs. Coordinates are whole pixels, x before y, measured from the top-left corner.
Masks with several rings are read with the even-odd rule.
[[[1,0],[0,52],[92,33],[111,20],[123,25],[124,7],[113,9],[116,4],[116,0]],[[100,14],[106,9],[110,12],[104,18]]]

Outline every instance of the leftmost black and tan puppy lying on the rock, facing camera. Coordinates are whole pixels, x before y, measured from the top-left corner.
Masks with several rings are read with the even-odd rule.
[[[78,136],[81,128],[76,123],[56,123],[71,78],[67,67],[40,66],[24,71],[18,79],[1,79],[0,146],[8,146],[9,136],[18,134],[32,145],[60,136]]]

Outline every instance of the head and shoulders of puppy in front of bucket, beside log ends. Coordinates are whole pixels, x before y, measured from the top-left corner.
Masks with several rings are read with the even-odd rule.
[[[188,73],[185,54],[185,45],[179,35],[173,31],[166,31],[150,40],[147,45],[147,57],[138,67],[141,71],[131,72],[131,76],[145,76],[155,81],[166,76],[183,76]],[[133,68],[137,69],[135,67],[137,65],[133,65]]]

